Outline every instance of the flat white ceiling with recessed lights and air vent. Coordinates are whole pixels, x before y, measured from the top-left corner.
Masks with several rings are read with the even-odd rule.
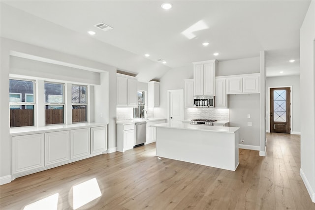
[[[160,72],[165,73],[169,68],[188,66],[194,61],[258,57],[259,51],[264,50],[267,76],[299,74],[299,30],[310,4],[310,0],[171,0],[168,2],[173,7],[163,10],[160,5],[165,1],[159,0],[1,2],[6,4],[6,9],[9,8],[7,5],[13,7],[15,13],[32,14],[106,46],[119,48],[125,54],[141,57],[134,60],[138,64],[130,68],[117,62],[108,63],[136,74],[148,71],[137,67],[141,62],[166,66],[160,67],[163,69]],[[8,12],[5,18],[9,19],[10,14]],[[101,22],[114,29],[103,31],[94,27]],[[9,27],[4,29],[1,29],[1,36],[19,39],[17,34],[13,35],[16,31]],[[32,29],[46,30],[45,25]],[[91,36],[88,30],[94,30],[96,34]],[[22,36],[20,39],[28,42]],[[31,42],[37,44],[30,39]],[[209,45],[203,46],[203,42]],[[216,52],[218,56],[213,55]],[[150,57],[146,58],[144,54],[150,54]],[[126,62],[132,62],[130,58],[125,58]],[[296,61],[288,62],[292,59]],[[280,74],[280,71],[284,72]]]

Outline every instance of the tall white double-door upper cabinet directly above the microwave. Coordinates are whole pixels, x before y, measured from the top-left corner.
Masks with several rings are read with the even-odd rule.
[[[217,60],[193,63],[194,95],[215,95]]]

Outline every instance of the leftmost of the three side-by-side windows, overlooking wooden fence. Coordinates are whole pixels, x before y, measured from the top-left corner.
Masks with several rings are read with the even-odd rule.
[[[9,79],[10,127],[35,125],[34,83]]]

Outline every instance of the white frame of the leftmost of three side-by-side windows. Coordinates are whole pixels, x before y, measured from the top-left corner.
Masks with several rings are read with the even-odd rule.
[[[22,102],[22,93],[19,93],[19,92],[10,92],[9,90],[9,110],[11,109],[11,106],[33,106],[34,107],[34,115],[33,115],[33,121],[34,121],[34,125],[29,125],[29,126],[18,126],[18,127],[11,127],[10,126],[10,129],[17,129],[17,128],[21,128],[21,127],[35,127],[37,125],[37,121],[36,121],[36,118],[37,118],[37,107],[36,107],[36,86],[37,86],[37,81],[36,80],[32,80],[32,79],[25,79],[25,78],[15,78],[15,77],[9,77],[9,81],[10,80],[20,80],[20,81],[28,81],[28,82],[32,82],[33,83],[33,102]],[[10,94],[18,94],[20,95],[20,101],[19,102],[11,102],[10,101]],[[30,94],[30,93],[25,93],[25,96],[26,94]],[[25,99],[26,100],[26,99]],[[10,116],[10,113],[9,113],[9,116]],[[11,116],[9,118],[9,120],[11,120]],[[10,121],[9,121],[10,122]],[[11,124],[11,122],[10,122]]]

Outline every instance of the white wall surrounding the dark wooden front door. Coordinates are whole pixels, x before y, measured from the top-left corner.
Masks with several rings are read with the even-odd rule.
[[[283,76],[283,77],[267,77],[267,84],[266,84],[266,108],[268,113],[266,114],[266,128],[270,131],[270,121],[269,113],[270,113],[270,93],[269,87],[288,87],[292,86],[292,98],[291,98],[291,107],[292,107],[292,127],[291,127],[291,134],[299,134],[300,133],[300,75],[295,76]]]

